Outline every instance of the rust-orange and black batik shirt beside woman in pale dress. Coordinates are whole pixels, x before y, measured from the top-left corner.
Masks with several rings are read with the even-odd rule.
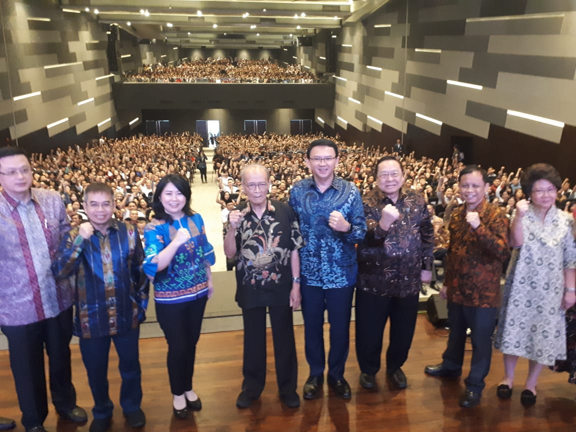
[[[502,263],[510,255],[508,218],[500,207],[486,200],[478,204],[475,211],[480,216],[476,229],[466,221],[466,204],[452,212],[444,285],[448,289],[448,301],[463,306],[497,308]]]

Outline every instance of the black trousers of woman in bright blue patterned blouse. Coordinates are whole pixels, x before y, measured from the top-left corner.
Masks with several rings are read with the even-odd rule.
[[[196,343],[208,297],[166,305],[156,303],[156,317],[168,342],[168,377],[173,395],[192,390]]]

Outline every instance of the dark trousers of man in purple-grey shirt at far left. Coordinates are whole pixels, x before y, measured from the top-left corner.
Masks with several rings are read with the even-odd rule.
[[[53,318],[26,325],[3,325],[8,339],[10,368],[22,425],[26,429],[43,425],[48,415],[44,345],[48,354],[50,394],[56,411],[68,411],[76,406],[76,392],[70,368],[72,338],[72,308]]]

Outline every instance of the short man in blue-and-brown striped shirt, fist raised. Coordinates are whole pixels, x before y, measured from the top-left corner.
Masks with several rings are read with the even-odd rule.
[[[62,239],[52,270],[58,280],[74,276],[74,335],[94,398],[90,432],[110,426],[113,404],[108,396],[108,353],[114,342],[122,377],[120,405],[132,427],[146,423],[140,408],[142,386],[138,359],[139,324],[148,299],[142,271],[144,251],[130,222],[112,219],[112,188],[91,183],[84,191],[88,222]]]

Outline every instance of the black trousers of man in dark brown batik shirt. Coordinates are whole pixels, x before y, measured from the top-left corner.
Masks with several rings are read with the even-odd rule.
[[[363,373],[376,375],[380,370],[382,337],[390,319],[390,340],[386,350],[386,370],[394,373],[408,358],[412,345],[418,294],[399,298],[356,290],[356,357]]]

